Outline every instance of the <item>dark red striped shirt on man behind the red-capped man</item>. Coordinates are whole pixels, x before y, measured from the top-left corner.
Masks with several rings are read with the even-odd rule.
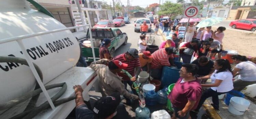
[[[125,58],[125,53],[116,56],[113,60],[119,60],[122,63],[128,64],[128,67],[125,69],[127,72],[131,74],[132,77],[135,76],[135,68],[140,67],[139,58],[134,59],[133,61],[128,62]],[[117,73],[119,77],[123,77],[123,81],[128,81],[130,78],[125,73]]]

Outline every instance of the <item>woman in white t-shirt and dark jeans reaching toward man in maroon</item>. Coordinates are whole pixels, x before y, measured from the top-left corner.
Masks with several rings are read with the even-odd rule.
[[[199,80],[211,78],[212,84],[201,84],[202,87],[211,88],[203,92],[199,104],[194,110],[195,112],[199,111],[204,101],[209,97],[212,97],[213,104],[211,105],[217,112],[219,112],[218,95],[226,94],[233,89],[233,75],[231,73],[231,66],[229,64],[229,61],[224,59],[216,60],[213,67],[215,68],[215,71],[212,74],[202,78],[198,78]]]

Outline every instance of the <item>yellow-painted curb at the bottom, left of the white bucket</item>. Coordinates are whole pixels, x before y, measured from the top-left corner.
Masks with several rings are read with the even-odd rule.
[[[208,100],[204,101],[203,107],[206,109],[206,111],[208,112],[209,116],[211,116],[212,119],[222,119]]]

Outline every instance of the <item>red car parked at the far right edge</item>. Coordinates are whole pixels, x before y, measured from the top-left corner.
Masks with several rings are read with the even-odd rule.
[[[233,29],[256,30],[256,19],[240,19],[231,21],[229,24]]]

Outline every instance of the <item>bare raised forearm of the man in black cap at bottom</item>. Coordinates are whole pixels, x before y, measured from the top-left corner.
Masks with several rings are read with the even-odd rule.
[[[76,106],[75,107],[79,107],[80,105],[83,105],[85,104],[84,103],[84,98],[83,98],[83,88],[81,85],[74,85],[73,86],[73,89],[75,90],[75,104]]]

